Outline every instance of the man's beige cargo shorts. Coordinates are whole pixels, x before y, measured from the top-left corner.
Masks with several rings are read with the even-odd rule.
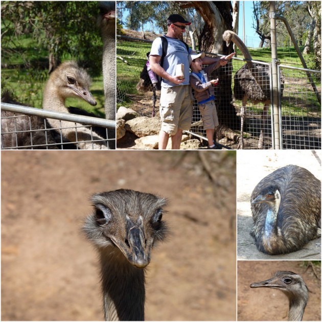
[[[162,87],[160,94],[161,129],[174,135],[178,128],[188,131],[192,120],[192,92],[190,85]]]

